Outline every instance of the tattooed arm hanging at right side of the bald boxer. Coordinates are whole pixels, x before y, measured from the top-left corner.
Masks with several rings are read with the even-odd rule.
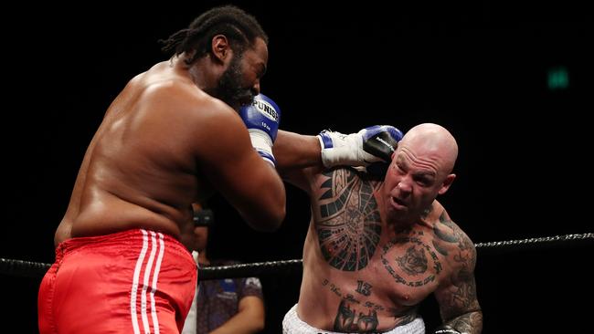
[[[456,270],[451,280],[435,291],[440,304],[440,315],[444,325],[451,326],[462,333],[478,334],[483,330],[483,312],[476,297],[474,266],[476,249],[470,238],[451,223],[455,247],[449,251],[455,262]],[[455,240],[455,241],[454,241]]]

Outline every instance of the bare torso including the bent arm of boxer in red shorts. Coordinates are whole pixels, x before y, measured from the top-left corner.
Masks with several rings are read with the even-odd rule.
[[[283,209],[275,174],[251,147],[239,114],[199,89],[183,60],[165,61],[133,78],[111,103],[85,153],[55,245],[133,228],[187,244],[191,204],[213,190],[248,221],[267,222],[261,214],[269,212],[256,209]],[[257,196],[257,185],[270,196]]]

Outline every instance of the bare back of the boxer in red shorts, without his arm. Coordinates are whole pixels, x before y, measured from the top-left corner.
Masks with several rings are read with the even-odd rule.
[[[135,227],[178,237],[190,204],[209,193],[194,144],[207,99],[169,62],[133,78],[85,153],[56,244]]]

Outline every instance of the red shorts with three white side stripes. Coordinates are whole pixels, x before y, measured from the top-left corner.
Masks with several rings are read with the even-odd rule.
[[[175,238],[146,230],[72,238],[41,281],[39,332],[179,333],[196,263]]]

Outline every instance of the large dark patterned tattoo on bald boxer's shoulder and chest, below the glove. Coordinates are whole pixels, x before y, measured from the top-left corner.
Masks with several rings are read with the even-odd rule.
[[[320,250],[330,266],[361,270],[376,252],[381,235],[373,185],[348,169],[324,176],[328,179],[321,185],[323,194],[318,199],[321,218],[315,225]]]

